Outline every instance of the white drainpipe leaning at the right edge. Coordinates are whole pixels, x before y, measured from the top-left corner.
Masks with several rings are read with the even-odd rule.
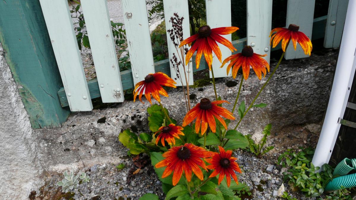
[[[344,116],[349,99],[352,80],[355,74],[356,52],[356,0],[350,0],[347,7],[344,31],[337,59],[333,88],[328,109],[326,110],[323,128],[315,149],[313,164],[321,167],[328,163],[340,129],[339,117]],[[319,74],[323,76],[323,74]]]

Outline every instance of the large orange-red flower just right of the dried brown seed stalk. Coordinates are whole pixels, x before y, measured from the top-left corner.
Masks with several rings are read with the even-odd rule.
[[[201,54],[204,53],[206,62],[208,63],[209,69],[211,70],[211,63],[213,62],[213,54],[211,51],[214,51],[216,57],[218,57],[221,62],[221,51],[216,42],[224,44],[231,51],[236,51],[236,48],[232,46],[232,43],[229,40],[226,40],[220,35],[227,35],[239,30],[237,27],[220,27],[220,28],[210,28],[209,26],[201,26],[198,29],[198,33],[188,37],[183,40],[179,47],[182,47],[185,44],[192,43],[192,48],[189,49],[187,55],[185,56],[185,65],[188,64],[190,58],[192,58],[193,53],[197,51],[197,56],[195,57],[195,63],[197,64],[197,69],[199,68]]]

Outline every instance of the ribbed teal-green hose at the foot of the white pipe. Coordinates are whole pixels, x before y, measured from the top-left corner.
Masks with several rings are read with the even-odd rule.
[[[334,177],[340,177],[334,178],[332,181],[330,181],[328,185],[326,185],[325,191],[334,191],[341,188],[356,187],[356,173],[347,175],[349,172],[351,172],[352,169],[356,170],[356,158],[345,158],[339,164],[337,164],[333,175]]]

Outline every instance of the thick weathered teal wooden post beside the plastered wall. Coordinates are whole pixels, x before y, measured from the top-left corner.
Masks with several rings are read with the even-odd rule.
[[[32,128],[57,128],[70,114],[59,102],[62,85],[40,2],[0,2],[0,42]]]

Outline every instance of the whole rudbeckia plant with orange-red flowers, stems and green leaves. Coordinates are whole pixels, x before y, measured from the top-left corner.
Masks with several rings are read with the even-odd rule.
[[[237,127],[251,107],[266,106],[263,103],[255,104],[255,101],[276,72],[289,42],[292,41],[294,49],[299,43],[304,53],[309,55],[312,51],[312,43],[304,33],[299,31],[297,25],[291,24],[288,28],[273,29],[270,35],[271,45],[276,47],[279,42],[282,42],[283,53],[277,65],[269,73],[270,66],[263,59],[266,55],[256,54],[250,46],[244,47],[241,52],[234,52],[231,56],[222,58],[217,42],[224,44],[231,51],[236,51],[232,43],[221,35],[231,34],[239,28],[202,26],[197,34],[183,39],[183,20],[183,17],[174,14],[170,20],[173,29],[168,30],[168,33],[177,50],[171,60],[172,66],[176,69],[179,81],[183,83],[185,80],[187,85],[182,87],[187,111],[185,117],[178,121],[173,119],[161,104],[161,96],[169,98],[162,86],[176,88],[176,81],[162,72],[148,74],[144,80],[136,84],[133,96],[134,101],[138,95],[138,99],[144,103],[145,100],[142,99],[144,95],[152,104],[147,108],[148,126],[151,132],[137,135],[130,130],[125,130],[119,134],[119,141],[130,149],[131,154],[150,155],[151,163],[162,182],[166,199],[239,199],[235,196],[236,190],[246,189],[248,186],[238,181],[238,177],[243,175],[244,166],[239,165],[239,160],[234,157],[233,151],[247,148],[251,138],[242,135],[237,131]],[[189,65],[194,52],[197,52],[195,57],[197,68],[201,55],[204,54],[209,70],[213,74],[211,64],[214,53],[222,62],[221,68],[226,67],[227,73],[232,72],[232,78],[235,79],[239,76],[238,72],[242,72],[239,91],[231,111],[224,107],[229,102],[216,95],[214,76],[215,99],[203,97],[200,102],[191,106],[187,98],[189,96],[188,74],[186,70],[180,72],[178,66]],[[226,66],[228,62],[230,63]],[[269,74],[268,78],[250,105],[246,108],[245,102],[242,101],[235,112],[242,82],[248,78],[256,78],[250,74],[250,68],[253,69],[258,80],[265,79]],[[229,127],[232,120],[237,121],[235,127]],[[259,150],[262,149],[263,144],[259,146]],[[270,149],[265,149],[263,152]]]

